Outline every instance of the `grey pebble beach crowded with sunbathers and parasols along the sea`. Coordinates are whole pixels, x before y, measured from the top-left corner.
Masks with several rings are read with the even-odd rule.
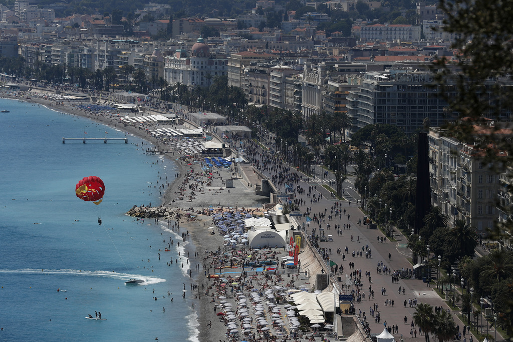
[[[180,234],[187,231],[193,242],[193,246],[188,245],[186,251],[190,252],[190,255],[194,253],[195,256],[194,259],[190,257],[191,270],[192,264],[196,264],[195,272],[191,273],[195,280],[195,288],[187,292],[187,295],[195,299],[194,301],[197,299],[197,306],[194,309],[198,310],[200,321],[199,340],[286,340],[287,337],[291,340],[290,336],[298,330],[293,328],[294,321],[287,318],[293,318],[293,314],[286,313],[287,308],[284,306],[287,305],[286,299],[290,293],[284,291],[300,285],[307,289],[310,285],[309,279],[304,274],[297,273],[295,278],[287,277],[287,274],[283,273],[285,271],[279,268],[269,271],[244,268],[243,261],[247,261],[245,259],[248,255],[252,255],[251,260],[272,259],[279,264],[288,252],[283,249],[250,251],[243,246],[227,249],[221,232],[216,228],[214,231],[208,229],[215,227],[212,221],[215,213],[223,213],[226,210],[235,212],[244,208],[251,215],[263,214],[261,209],[251,207],[261,198],[255,196],[247,184],[235,180],[239,182],[235,185],[236,190],[228,191],[224,181],[227,173],[223,171],[209,175],[208,186],[206,182],[200,184],[196,180],[206,176],[201,166],[187,165],[189,163],[186,163],[183,158],[177,158],[179,157],[177,151],[172,151],[168,146],[164,146],[162,141],[148,134],[146,127],[126,125],[120,123],[119,119],[111,115],[112,113],[89,112],[78,108],[77,103],[62,102],[60,96],[54,96],[52,90],[31,91],[30,94],[17,93],[16,96],[12,93],[4,93],[2,97],[28,101],[59,112],[87,117],[97,123],[126,132],[128,136],[134,135],[147,140],[149,145],[144,148],[167,150],[168,153],[164,156],[175,162],[178,177],[173,180],[168,179],[166,188],[163,189],[161,205],[180,214],[180,229],[176,227],[175,232]],[[232,205],[233,209],[229,209]],[[153,206],[155,207],[155,204]],[[126,209],[128,211],[130,208]],[[227,272],[225,267],[230,265],[231,268]],[[233,285],[241,280],[241,285]],[[247,286],[243,287],[242,284]],[[276,303],[275,299],[270,299],[278,296],[278,293],[283,297],[282,303]],[[220,303],[221,301],[225,303]],[[246,303],[243,304],[244,301]],[[232,314],[235,317],[232,317]],[[273,315],[279,315],[279,317],[273,317]],[[237,330],[236,333],[235,330]]]

